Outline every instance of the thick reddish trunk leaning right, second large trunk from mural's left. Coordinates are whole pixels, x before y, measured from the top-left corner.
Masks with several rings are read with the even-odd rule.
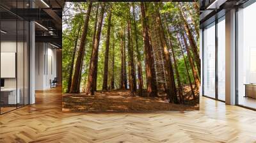
[[[104,8],[105,8],[105,4],[103,3],[102,8],[100,10],[100,20],[99,20],[99,25],[98,25],[98,28],[97,28],[98,30],[97,30],[97,33],[96,33],[96,39],[95,39],[95,43],[93,45],[92,63],[89,66],[89,74],[88,74],[88,80],[87,80],[88,82],[87,82],[87,87],[86,87],[85,94],[94,94],[93,79],[95,79],[95,72],[97,70],[97,68],[96,68],[97,59],[98,59],[97,53],[99,52],[100,33],[101,33],[102,22],[103,22],[103,18],[104,18]]]

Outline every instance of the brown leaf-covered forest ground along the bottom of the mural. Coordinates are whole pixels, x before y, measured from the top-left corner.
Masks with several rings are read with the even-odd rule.
[[[129,90],[97,91],[94,95],[63,94],[63,112],[154,112],[158,110],[198,110],[199,91],[195,89],[197,98],[191,97],[189,86],[184,86],[185,105],[169,103],[164,92],[157,98],[132,96]]]

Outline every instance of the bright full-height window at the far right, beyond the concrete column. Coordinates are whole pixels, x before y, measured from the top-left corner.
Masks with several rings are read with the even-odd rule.
[[[237,104],[256,109],[256,3],[237,11]]]

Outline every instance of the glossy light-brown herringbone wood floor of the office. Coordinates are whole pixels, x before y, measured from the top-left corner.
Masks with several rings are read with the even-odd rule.
[[[61,90],[0,116],[0,142],[256,142],[256,112],[200,99],[200,111],[61,112]]]

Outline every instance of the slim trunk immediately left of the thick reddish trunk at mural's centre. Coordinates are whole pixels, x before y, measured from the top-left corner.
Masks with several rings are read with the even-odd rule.
[[[135,20],[134,3],[132,3],[132,15],[133,15],[133,21],[134,21],[134,35],[135,35],[135,44],[136,44],[136,53],[137,53],[137,66],[138,66],[138,84],[139,84],[138,95],[141,96],[142,89],[143,89],[143,75],[142,75],[142,69],[141,69],[140,50],[138,47],[138,35],[137,35],[137,26],[136,26],[136,20]]]

